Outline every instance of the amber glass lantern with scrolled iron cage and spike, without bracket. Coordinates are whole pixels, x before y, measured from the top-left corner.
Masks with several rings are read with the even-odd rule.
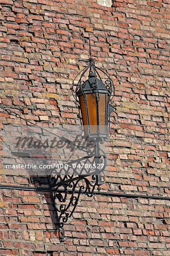
[[[88,71],[88,79],[84,81]],[[106,138],[109,134],[110,114],[114,109],[111,106],[111,98],[114,94],[113,81],[103,69],[96,67],[91,50],[88,67],[78,75],[80,79],[77,84],[74,84],[76,80],[74,79],[72,92],[80,110],[84,135]],[[101,78],[103,76],[104,79]]]

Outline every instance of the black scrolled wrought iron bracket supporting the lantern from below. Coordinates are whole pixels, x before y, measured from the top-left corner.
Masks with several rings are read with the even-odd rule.
[[[89,149],[87,148],[86,157],[69,162],[68,170],[64,170],[65,167],[60,171],[56,169],[51,170],[49,186],[51,188],[51,198],[56,213],[56,226],[60,234],[60,241],[64,240],[64,224],[73,215],[80,195],[85,194],[88,197],[92,197],[96,188],[98,191],[100,190],[100,185],[102,184],[101,172],[106,167],[106,154],[99,146],[102,143],[102,139],[96,138],[94,141],[94,148],[91,151],[92,154],[89,154]],[[88,164],[89,170],[82,168],[81,174],[78,174],[76,168],[81,163]],[[73,170],[73,164],[75,165],[75,170]],[[101,166],[101,164],[102,168],[97,169],[97,165]],[[82,171],[86,171],[86,174],[83,175]],[[67,173],[67,175],[62,175],[62,172],[64,174]],[[69,172],[72,174],[69,174]]]

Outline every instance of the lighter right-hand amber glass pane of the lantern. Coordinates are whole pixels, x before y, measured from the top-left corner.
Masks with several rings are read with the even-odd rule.
[[[105,134],[105,125],[106,125],[106,94],[99,94],[98,102],[98,115],[99,115],[99,132]]]

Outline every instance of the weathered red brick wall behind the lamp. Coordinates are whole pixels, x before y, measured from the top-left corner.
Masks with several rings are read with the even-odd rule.
[[[169,1],[0,3],[0,103],[45,127],[78,123],[69,88],[89,57],[90,34],[93,56],[114,81],[117,107],[102,191],[169,196]],[[25,124],[1,110],[0,128],[8,123]],[[31,185],[29,177],[0,179]],[[169,256],[169,205],[81,196],[60,243],[49,193],[1,189],[0,254]]]

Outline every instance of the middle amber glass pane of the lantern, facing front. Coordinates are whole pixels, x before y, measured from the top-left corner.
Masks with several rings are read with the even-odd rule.
[[[90,134],[94,134],[98,132],[96,94],[86,94],[86,99],[89,113]]]

